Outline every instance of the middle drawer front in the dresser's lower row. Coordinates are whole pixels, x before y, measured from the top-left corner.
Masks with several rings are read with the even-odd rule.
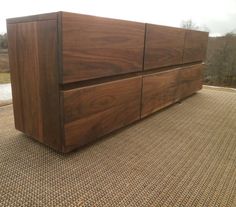
[[[176,101],[178,71],[179,69],[169,70],[143,77],[141,117]]]

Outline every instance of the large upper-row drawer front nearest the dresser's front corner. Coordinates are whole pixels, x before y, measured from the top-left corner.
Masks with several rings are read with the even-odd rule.
[[[62,82],[142,70],[145,24],[62,13]]]

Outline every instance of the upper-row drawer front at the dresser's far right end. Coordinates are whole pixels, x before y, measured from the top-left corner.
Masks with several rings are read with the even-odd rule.
[[[208,42],[208,32],[187,30],[184,44],[183,63],[204,61]]]

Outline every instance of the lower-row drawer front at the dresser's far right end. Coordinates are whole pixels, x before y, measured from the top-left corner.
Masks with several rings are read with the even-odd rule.
[[[179,71],[178,96],[188,97],[202,88],[203,64],[181,68]]]

